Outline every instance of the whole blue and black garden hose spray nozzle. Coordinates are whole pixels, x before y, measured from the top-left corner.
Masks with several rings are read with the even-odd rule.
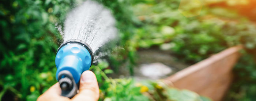
[[[72,98],[78,93],[79,80],[93,63],[93,51],[82,40],[65,41],[57,50],[56,79],[60,83],[61,96]]]

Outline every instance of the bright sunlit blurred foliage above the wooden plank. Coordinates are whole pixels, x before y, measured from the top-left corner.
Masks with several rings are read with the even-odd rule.
[[[172,3],[176,3],[175,0]],[[238,16],[233,16],[236,20],[225,20],[230,17],[215,14],[217,11],[228,12],[226,9],[204,8],[200,16],[187,18],[169,5],[163,1],[133,6],[135,14],[144,24],[136,29],[136,47],[157,45],[171,50],[180,60],[191,64],[237,44],[255,47],[255,40],[252,40],[256,36],[255,26],[244,19],[237,19]]]

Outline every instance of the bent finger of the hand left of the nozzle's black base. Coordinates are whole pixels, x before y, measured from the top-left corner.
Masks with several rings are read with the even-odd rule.
[[[61,89],[60,89],[60,84],[57,82],[53,86],[51,86],[44,94],[39,96],[37,98],[37,101],[69,101],[69,98],[60,96],[61,94]]]

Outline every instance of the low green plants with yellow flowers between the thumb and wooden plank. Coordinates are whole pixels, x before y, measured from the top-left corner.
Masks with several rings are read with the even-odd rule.
[[[132,78],[112,79],[108,62],[90,68],[100,86],[99,101],[211,101],[189,90],[170,88],[161,81],[135,82]]]

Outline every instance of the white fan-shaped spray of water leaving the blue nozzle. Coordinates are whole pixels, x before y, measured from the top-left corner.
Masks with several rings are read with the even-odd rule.
[[[71,39],[83,40],[93,53],[116,36],[112,13],[95,1],[86,0],[74,8],[64,23],[64,42]]]

